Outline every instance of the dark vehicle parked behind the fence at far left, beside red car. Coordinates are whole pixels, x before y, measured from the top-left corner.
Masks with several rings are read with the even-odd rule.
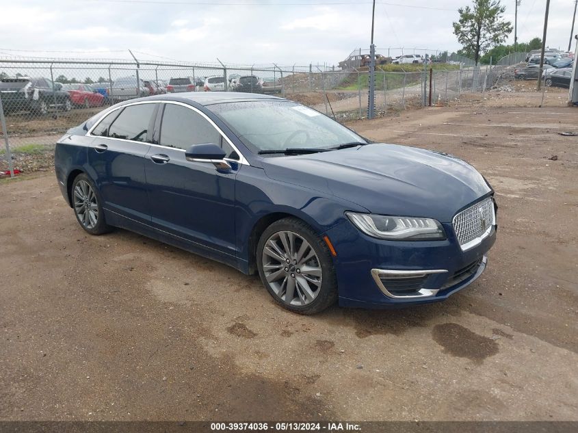
[[[44,115],[49,109],[70,111],[70,95],[62,84],[44,77],[3,78],[0,80],[0,97],[5,112],[29,111]]]

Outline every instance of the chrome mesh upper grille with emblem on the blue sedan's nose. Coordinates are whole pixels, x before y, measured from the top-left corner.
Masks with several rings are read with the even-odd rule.
[[[494,200],[491,197],[458,213],[452,224],[460,246],[484,235],[495,224],[494,215]]]

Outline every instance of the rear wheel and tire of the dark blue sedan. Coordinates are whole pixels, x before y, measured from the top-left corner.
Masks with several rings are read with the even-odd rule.
[[[70,190],[70,198],[78,223],[91,235],[103,235],[111,231],[105,221],[102,200],[92,180],[79,174]]]

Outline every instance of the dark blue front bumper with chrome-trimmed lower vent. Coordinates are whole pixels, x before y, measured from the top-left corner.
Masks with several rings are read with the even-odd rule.
[[[479,245],[462,251],[451,224],[443,241],[385,241],[364,235],[350,222],[328,235],[334,258],[339,304],[359,308],[395,308],[447,299],[486,269],[486,253],[495,243],[495,227]]]

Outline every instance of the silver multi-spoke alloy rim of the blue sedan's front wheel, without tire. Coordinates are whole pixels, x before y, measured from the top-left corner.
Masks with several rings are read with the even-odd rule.
[[[274,233],[263,248],[263,273],[275,295],[293,306],[311,304],[321,288],[322,270],[317,253],[292,231]]]

